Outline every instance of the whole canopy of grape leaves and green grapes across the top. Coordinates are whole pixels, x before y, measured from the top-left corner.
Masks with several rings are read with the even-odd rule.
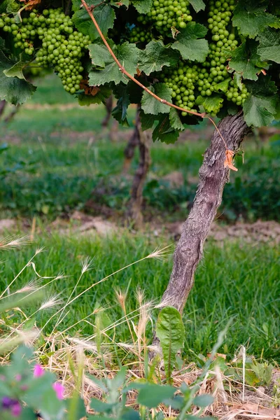
[[[169,119],[158,117],[153,139],[167,143],[176,141],[186,123],[199,122],[197,117],[184,119],[192,110],[226,115],[244,109],[248,125],[269,124],[278,111],[270,92],[256,97],[249,80],[261,83],[261,73],[265,69],[267,76],[279,86],[276,66],[280,64],[279,6],[272,0],[229,0],[228,3],[192,0],[190,4],[185,3],[179,0],[174,7],[158,0],[87,2],[120,65],[152,92],[162,92],[162,99],[166,99],[165,91],[158,85],[159,81],[165,83],[171,90],[172,97],[167,95],[169,102],[184,110],[177,117],[165,104],[159,102],[156,106],[153,98],[149,101],[145,92],[142,109],[147,116],[149,113],[152,116],[170,113]],[[18,12],[19,8],[17,0],[6,1],[1,6],[0,31],[4,42],[1,43],[0,97],[14,104],[29,99],[34,87],[23,78],[22,69],[36,55],[39,64],[53,66],[66,91],[76,93],[80,105],[104,102],[109,90],[117,92],[118,104],[113,116],[127,125],[127,109],[130,103],[136,102],[127,90],[122,87],[116,90],[116,86],[126,85],[129,79],[118,68],[80,1],[72,0],[70,16],[63,15],[59,8],[50,9],[50,15],[57,16],[55,23],[46,18],[48,10],[43,8],[34,12],[22,10],[21,16],[15,13],[15,17],[10,18],[8,14]],[[56,19],[61,19],[62,24]],[[32,29],[31,26],[27,28],[27,23]],[[29,33],[22,38],[25,27]],[[62,31],[55,36],[62,35],[63,39],[52,37],[52,29]],[[84,36],[82,41],[81,34]],[[87,52],[88,39],[92,44]],[[71,48],[62,47],[62,41],[69,43],[63,45]],[[48,43],[50,45],[46,45]],[[80,50],[74,48],[78,45],[81,45]],[[55,48],[55,54],[52,48]],[[73,64],[69,64],[69,60]],[[70,66],[75,71],[71,75]],[[84,85],[80,84],[81,78],[90,87],[100,87],[95,96],[87,94]],[[106,94],[103,94],[103,88]],[[141,102],[139,95],[137,99]],[[155,122],[154,118],[145,121],[148,120],[150,125]]]

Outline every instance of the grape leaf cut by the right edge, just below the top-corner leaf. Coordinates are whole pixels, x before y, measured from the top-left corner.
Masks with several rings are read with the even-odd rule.
[[[258,54],[261,59],[270,59],[280,64],[280,31],[276,29],[266,28],[259,34]]]

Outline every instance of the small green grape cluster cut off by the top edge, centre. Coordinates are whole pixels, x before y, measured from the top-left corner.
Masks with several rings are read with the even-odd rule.
[[[190,15],[188,0],[153,0],[148,18],[155,20],[155,28],[167,36],[171,36],[170,28],[183,29],[193,20]]]

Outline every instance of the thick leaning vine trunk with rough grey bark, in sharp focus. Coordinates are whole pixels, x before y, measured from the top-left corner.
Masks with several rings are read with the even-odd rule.
[[[249,129],[241,113],[225,117],[218,125],[232,151],[237,151]],[[225,145],[215,130],[211,145],[204,154],[200,168],[193,209],[183,225],[183,233],[174,253],[174,265],[162,306],[171,305],[181,313],[194,283],[195,269],[202,258],[204,241],[221,204],[223,188],[228,181],[229,169],[224,167]]]

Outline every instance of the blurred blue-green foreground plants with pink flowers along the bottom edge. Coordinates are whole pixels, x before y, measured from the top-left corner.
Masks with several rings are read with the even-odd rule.
[[[92,398],[90,408],[94,410],[94,414],[87,414],[78,393],[74,392],[68,400],[64,400],[62,384],[55,382],[53,373],[43,370],[41,365],[36,365],[33,358],[31,349],[22,346],[13,353],[10,365],[1,366],[1,419],[10,420],[17,417],[20,420],[35,420],[38,413],[45,420],[151,420],[154,416],[149,410],[141,408],[157,408],[162,404],[179,409],[182,414],[189,413],[188,419],[200,419],[200,416],[191,414],[192,406],[204,408],[214,402],[211,395],[195,396],[199,390],[197,386],[189,388],[184,384],[181,388],[174,388],[148,382],[131,382],[126,386],[126,371],[123,368],[113,379],[100,381],[90,377],[104,391],[106,401]],[[138,411],[126,406],[126,394],[133,390],[139,390]],[[174,393],[180,395],[174,396]],[[158,416],[160,419],[160,412]]]

